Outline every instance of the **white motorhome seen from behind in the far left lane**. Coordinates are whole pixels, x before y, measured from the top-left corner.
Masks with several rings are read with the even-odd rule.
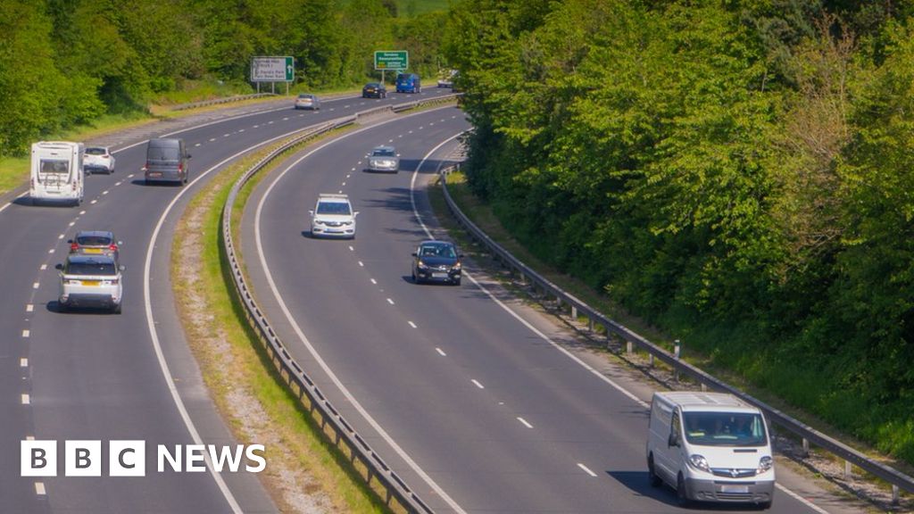
[[[38,201],[63,201],[80,205],[84,176],[82,143],[40,141],[32,145],[32,170],[28,196]]]

